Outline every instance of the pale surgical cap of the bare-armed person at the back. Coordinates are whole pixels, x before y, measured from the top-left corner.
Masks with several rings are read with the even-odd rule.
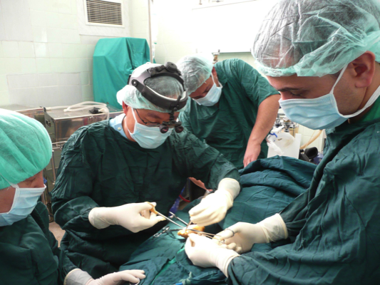
[[[177,66],[185,81],[186,92],[190,95],[210,78],[212,58],[203,55],[185,56],[178,61]]]

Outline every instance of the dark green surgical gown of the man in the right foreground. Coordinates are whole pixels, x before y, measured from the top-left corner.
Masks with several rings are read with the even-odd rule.
[[[232,259],[229,284],[379,284],[379,173],[379,117],[328,130],[309,190],[280,212],[293,243]]]

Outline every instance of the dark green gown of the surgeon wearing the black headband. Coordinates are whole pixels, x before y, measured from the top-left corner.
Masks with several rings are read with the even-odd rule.
[[[148,150],[108,121],[80,128],[63,147],[52,192],[56,222],[66,230],[61,248],[93,278],[117,271],[164,222],[136,234],[120,226],[96,229],[88,222],[91,209],[149,201],[168,214],[188,177],[213,190],[225,177],[240,179],[220,152],[186,130]]]

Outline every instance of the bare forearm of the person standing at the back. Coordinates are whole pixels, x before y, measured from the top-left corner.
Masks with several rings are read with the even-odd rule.
[[[247,147],[260,145],[272,130],[279,110],[279,98],[279,94],[270,95],[260,104]]]

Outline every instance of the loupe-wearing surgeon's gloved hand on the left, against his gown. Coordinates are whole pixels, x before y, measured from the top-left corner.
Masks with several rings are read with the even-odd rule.
[[[152,204],[156,205],[155,202]],[[129,229],[130,232],[140,232],[165,220],[165,218],[159,217],[153,212],[149,213],[152,208],[153,206],[147,202],[124,204],[119,207],[93,208],[88,214],[88,220],[97,229],[104,229],[111,226],[111,224],[118,224],[125,227],[125,229]]]

